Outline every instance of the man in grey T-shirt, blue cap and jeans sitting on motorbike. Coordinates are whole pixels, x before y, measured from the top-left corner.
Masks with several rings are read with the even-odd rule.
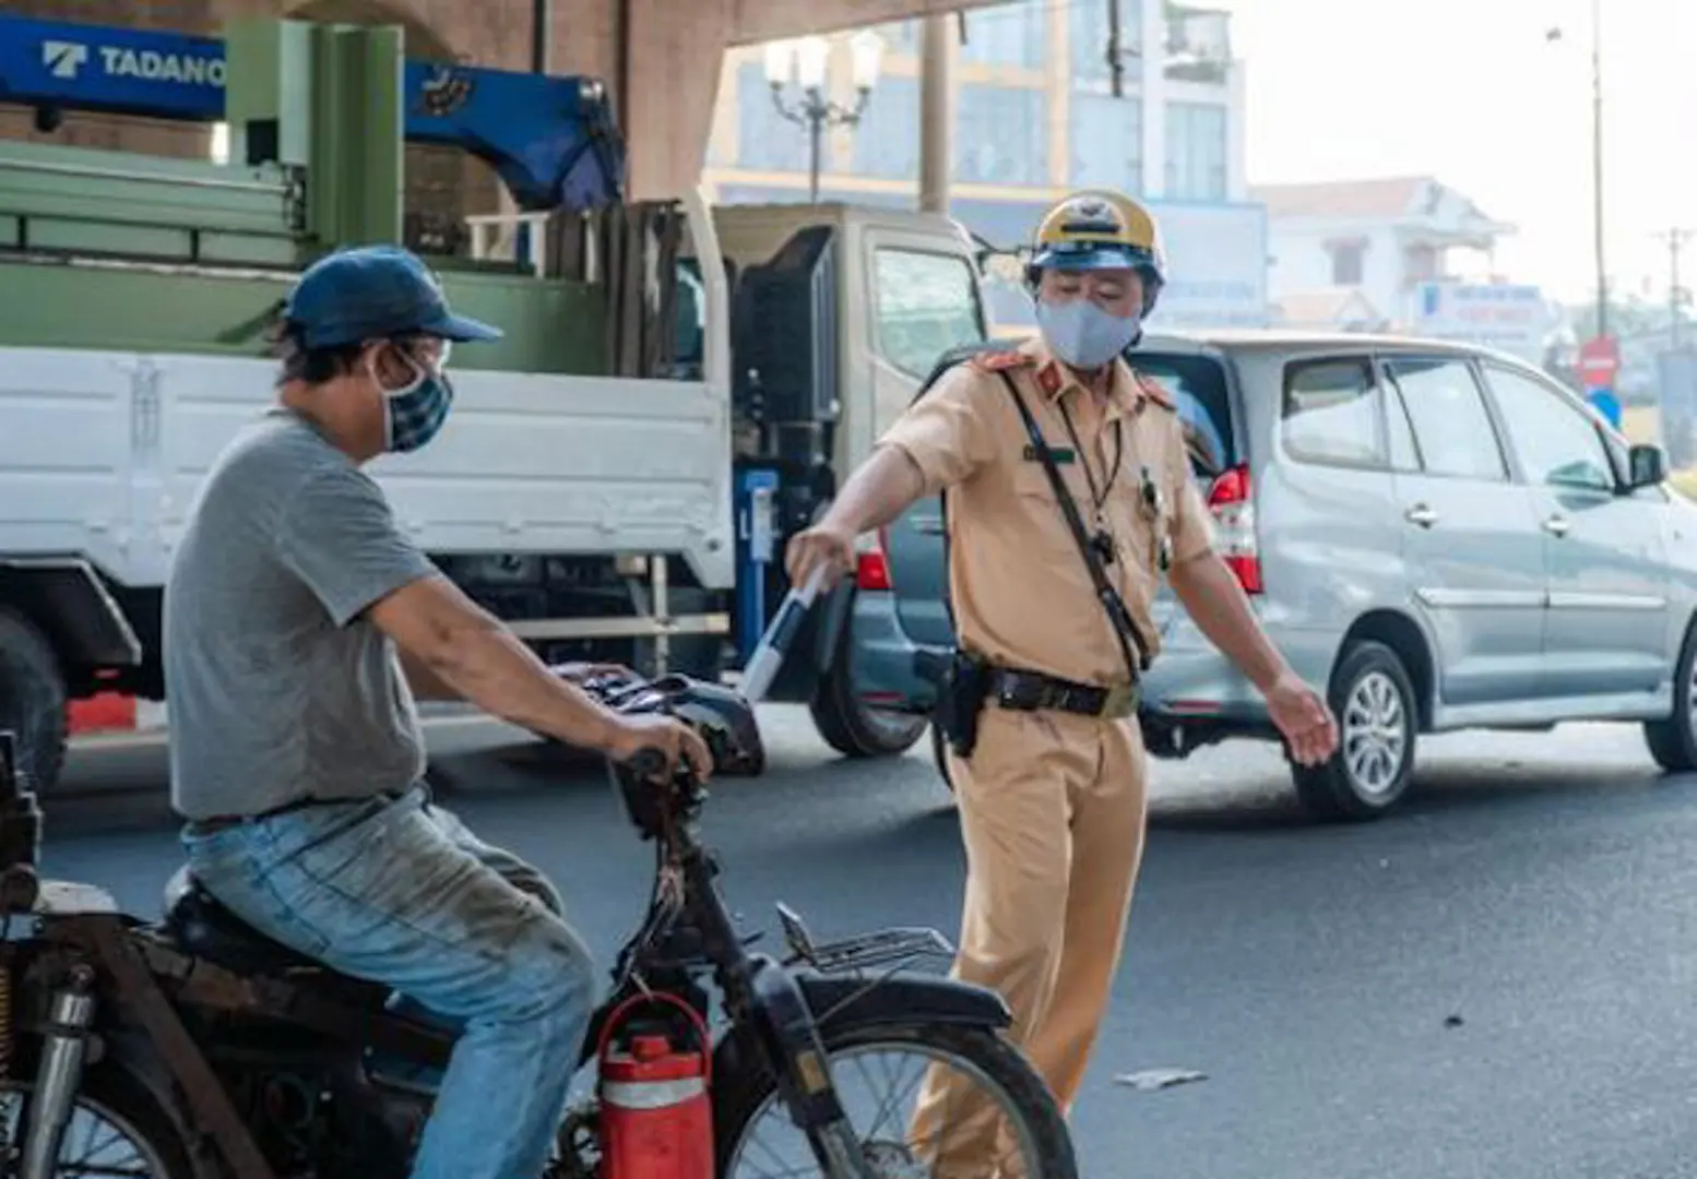
[[[703,775],[701,738],[552,672],[395,526],[361,467],[443,427],[455,316],[394,246],[309,268],[278,404],[214,463],[165,592],[171,804],[190,870],[256,930],[463,1026],[417,1179],[538,1176],[592,1003],[589,952],[540,872],[421,785],[416,697]],[[397,658],[399,657],[399,658]]]

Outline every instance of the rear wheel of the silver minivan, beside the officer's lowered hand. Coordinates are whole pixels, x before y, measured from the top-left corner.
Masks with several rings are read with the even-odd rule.
[[[1388,646],[1361,641],[1344,651],[1327,696],[1337,718],[1337,753],[1325,765],[1291,765],[1297,797],[1317,819],[1378,818],[1414,777],[1414,680]]]

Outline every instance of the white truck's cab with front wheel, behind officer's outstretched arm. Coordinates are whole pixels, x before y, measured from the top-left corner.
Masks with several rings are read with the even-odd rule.
[[[988,338],[989,312],[979,246],[940,214],[720,205],[713,221],[731,292],[733,636],[747,658],[787,589],[782,539],[825,511],[938,355]],[[882,550],[869,543],[855,578],[813,611],[769,694],[806,702],[847,757],[899,753],[927,728],[925,716],[854,689],[855,602],[888,587]]]

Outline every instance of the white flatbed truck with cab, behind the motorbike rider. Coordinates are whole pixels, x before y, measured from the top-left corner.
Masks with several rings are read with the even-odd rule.
[[[372,465],[407,533],[548,658],[738,667],[786,589],[784,538],[932,360],[988,331],[977,249],[949,219],[701,200],[684,214],[672,355],[650,365],[669,375],[480,370],[468,346],[450,427]],[[477,226],[485,266],[511,231]],[[602,287],[618,278],[585,270]],[[109,263],[102,290],[139,297],[144,271]],[[0,268],[0,304],[64,309],[68,277]],[[282,295],[288,278],[239,282]],[[662,287],[652,273],[640,283],[648,302]],[[44,789],[68,735],[168,726],[171,551],[209,463],[272,400],[273,363],[120,339],[15,343],[22,332],[0,327],[0,729],[20,735]],[[848,690],[852,592],[815,611],[769,699],[808,702],[847,755],[899,752],[925,719]]]

